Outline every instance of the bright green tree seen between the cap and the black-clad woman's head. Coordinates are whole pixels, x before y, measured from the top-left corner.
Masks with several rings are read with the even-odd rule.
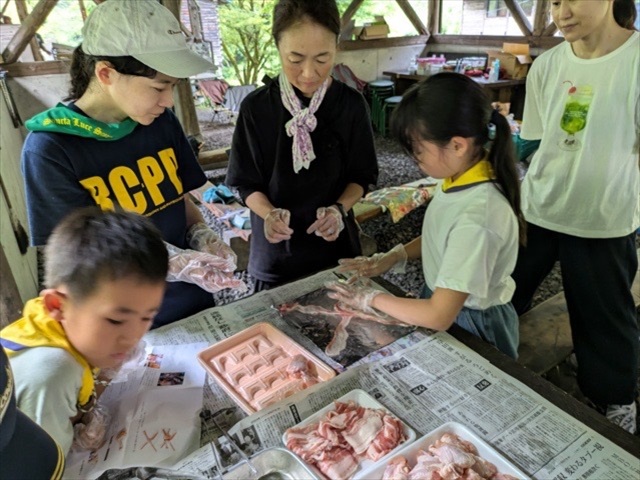
[[[271,38],[275,0],[230,0],[218,7],[222,53],[227,81],[255,84],[264,74],[279,70],[278,53]]]

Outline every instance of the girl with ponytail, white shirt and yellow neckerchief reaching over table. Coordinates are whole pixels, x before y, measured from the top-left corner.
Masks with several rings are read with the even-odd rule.
[[[511,129],[472,79],[444,72],[414,85],[396,108],[394,136],[420,169],[441,179],[422,235],[384,254],[341,260],[357,276],[402,271],[422,258],[423,298],[400,298],[368,282],[333,283],[333,298],[365,311],[446,330],[454,322],[517,357],[518,317],[511,272],[524,218]]]

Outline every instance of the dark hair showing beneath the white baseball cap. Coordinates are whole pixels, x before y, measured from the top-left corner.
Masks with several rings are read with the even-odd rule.
[[[69,94],[64,101],[77,100],[89,88],[89,83],[94,76],[96,63],[104,60],[109,62],[114,70],[122,75],[135,75],[138,77],[154,78],[158,72],[151,67],[147,67],[144,63],[133,57],[101,57],[87,55],[82,50],[82,44],[78,45],[73,51],[71,59],[71,68],[69,74],[71,76],[71,86]]]

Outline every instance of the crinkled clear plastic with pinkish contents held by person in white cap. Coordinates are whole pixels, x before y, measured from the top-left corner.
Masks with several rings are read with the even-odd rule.
[[[169,252],[168,282],[193,283],[210,293],[225,288],[247,291],[245,283],[233,277],[233,270],[229,271],[232,267],[228,259],[196,250],[182,250],[166,242],[165,245]]]

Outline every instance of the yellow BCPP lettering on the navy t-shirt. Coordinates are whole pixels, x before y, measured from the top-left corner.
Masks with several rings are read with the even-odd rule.
[[[80,180],[102,210],[115,205],[142,215],[153,213],[180,201],[184,188],[178,176],[178,162],[173,148],[136,161],[137,168],[119,165],[103,176]]]

